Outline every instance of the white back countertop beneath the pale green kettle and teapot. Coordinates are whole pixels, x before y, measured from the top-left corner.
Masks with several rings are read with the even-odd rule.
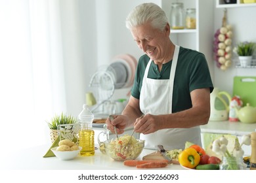
[[[242,122],[209,121],[200,126],[202,133],[224,133],[230,135],[247,135],[256,130],[256,123],[245,124]]]

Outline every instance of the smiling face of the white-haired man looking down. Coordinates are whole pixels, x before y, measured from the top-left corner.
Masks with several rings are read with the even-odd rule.
[[[150,22],[131,29],[133,39],[139,48],[156,63],[169,61],[171,54],[171,41],[169,39],[170,27],[165,26],[163,31],[152,27]]]

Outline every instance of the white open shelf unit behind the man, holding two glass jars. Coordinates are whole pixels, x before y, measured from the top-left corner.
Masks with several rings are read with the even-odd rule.
[[[160,0],[160,7],[165,11],[167,18],[170,18],[171,3],[177,0]],[[171,29],[170,38],[174,44],[184,48],[197,50],[205,54],[207,60],[211,60],[212,46],[207,41],[211,41],[213,33],[213,7],[215,2],[205,0],[179,0],[186,8],[196,9],[196,29]],[[209,23],[210,22],[210,23]]]

